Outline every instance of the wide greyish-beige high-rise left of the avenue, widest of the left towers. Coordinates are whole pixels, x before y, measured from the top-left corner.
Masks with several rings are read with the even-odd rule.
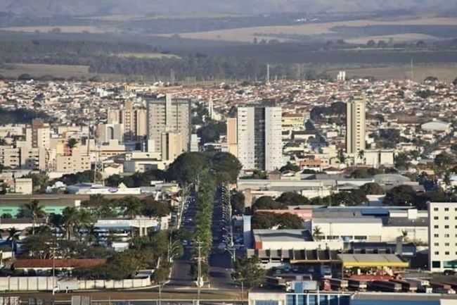
[[[191,101],[173,99],[171,94],[165,97],[148,99],[148,139],[153,140],[154,151],[162,153],[165,159],[166,144],[162,144],[164,134],[180,134],[181,149],[188,151],[191,142]],[[182,152],[181,151],[181,152]]]

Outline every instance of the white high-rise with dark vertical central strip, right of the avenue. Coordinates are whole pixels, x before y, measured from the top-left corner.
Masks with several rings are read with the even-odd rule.
[[[283,166],[281,117],[281,107],[238,108],[238,159],[244,170]]]

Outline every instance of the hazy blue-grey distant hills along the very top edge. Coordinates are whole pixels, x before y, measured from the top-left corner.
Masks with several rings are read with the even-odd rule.
[[[322,13],[397,9],[443,13],[456,11],[457,4],[449,0],[0,0],[0,11],[34,16]]]

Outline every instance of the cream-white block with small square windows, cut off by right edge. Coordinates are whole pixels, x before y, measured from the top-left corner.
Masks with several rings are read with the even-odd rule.
[[[457,270],[457,202],[429,202],[429,268]]]

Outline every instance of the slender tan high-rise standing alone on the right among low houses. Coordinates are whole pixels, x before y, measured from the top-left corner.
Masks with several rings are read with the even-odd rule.
[[[365,107],[365,97],[356,97],[346,104],[346,153],[352,156],[365,150]]]

